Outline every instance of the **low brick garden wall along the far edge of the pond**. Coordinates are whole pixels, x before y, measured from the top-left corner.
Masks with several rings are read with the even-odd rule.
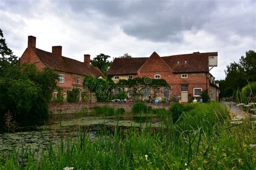
[[[123,108],[126,112],[132,110],[133,103],[52,103],[49,105],[50,114],[72,114],[77,112],[90,112],[94,107],[102,107],[109,105],[114,108]],[[166,108],[170,104],[167,103],[147,103],[152,108]]]

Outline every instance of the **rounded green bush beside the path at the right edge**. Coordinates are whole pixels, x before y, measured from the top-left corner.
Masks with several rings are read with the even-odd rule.
[[[242,103],[256,102],[256,82],[247,84],[242,88]]]

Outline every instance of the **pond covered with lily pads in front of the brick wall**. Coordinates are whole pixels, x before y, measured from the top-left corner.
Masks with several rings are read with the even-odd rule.
[[[79,132],[87,131],[87,135],[94,140],[104,128],[108,134],[117,127],[122,130],[133,128],[157,128],[160,118],[157,115],[134,116],[125,113],[118,116],[87,116],[85,114],[52,115],[48,124],[41,126],[24,126],[15,133],[0,133],[0,152],[11,151],[14,148],[30,147],[37,154],[46,150],[50,141],[53,146],[66,138],[76,139]]]

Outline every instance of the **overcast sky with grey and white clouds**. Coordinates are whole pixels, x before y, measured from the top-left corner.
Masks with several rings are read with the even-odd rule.
[[[256,51],[255,2],[0,0],[0,28],[19,57],[28,36],[37,48],[61,45],[64,56],[79,61],[83,54],[218,52],[211,73],[224,79],[226,65]]]

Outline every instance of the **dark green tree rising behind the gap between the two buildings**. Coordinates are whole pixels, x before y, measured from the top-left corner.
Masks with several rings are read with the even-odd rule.
[[[107,70],[109,70],[112,64],[112,62],[107,60],[108,58],[111,58],[111,56],[100,53],[95,58],[93,58],[93,60],[91,60],[91,65],[98,67],[106,75]]]

